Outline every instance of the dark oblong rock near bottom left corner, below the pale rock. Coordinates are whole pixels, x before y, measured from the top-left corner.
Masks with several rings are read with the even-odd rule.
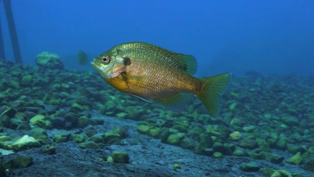
[[[33,158],[31,156],[17,156],[2,165],[6,169],[14,170],[19,168],[26,168],[31,164],[32,161]]]

